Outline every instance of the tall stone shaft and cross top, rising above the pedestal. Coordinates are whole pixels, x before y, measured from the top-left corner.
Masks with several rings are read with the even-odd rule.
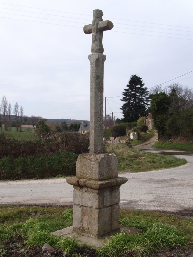
[[[92,33],[90,60],[90,153],[103,153],[103,74],[106,56],[103,55],[103,31],[111,30],[113,23],[103,21],[101,10],[93,11],[92,24],[84,26],[84,33]]]

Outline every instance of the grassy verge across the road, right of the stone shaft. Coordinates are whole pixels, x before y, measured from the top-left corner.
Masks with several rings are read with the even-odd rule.
[[[128,148],[124,143],[106,146],[107,153],[115,153],[119,171],[142,172],[176,167],[186,160],[171,155],[161,155]]]

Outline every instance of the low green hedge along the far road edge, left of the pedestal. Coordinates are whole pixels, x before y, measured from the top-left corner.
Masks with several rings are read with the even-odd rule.
[[[7,156],[0,159],[0,180],[75,175],[77,158],[78,155],[63,151],[50,156]]]

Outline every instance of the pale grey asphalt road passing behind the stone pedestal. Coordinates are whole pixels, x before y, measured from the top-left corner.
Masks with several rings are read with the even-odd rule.
[[[193,155],[177,157],[188,163],[171,169],[120,174],[128,178],[120,188],[120,207],[193,213]],[[72,204],[73,187],[63,178],[0,182],[0,205]]]

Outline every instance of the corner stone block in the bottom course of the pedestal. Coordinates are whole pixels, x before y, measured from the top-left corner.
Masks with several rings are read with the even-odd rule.
[[[100,210],[90,209],[89,233],[93,237],[100,238],[111,231],[112,208],[107,207]]]

